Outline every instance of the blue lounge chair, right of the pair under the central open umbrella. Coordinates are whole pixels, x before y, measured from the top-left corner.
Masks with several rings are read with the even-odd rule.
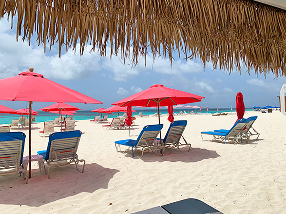
[[[171,148],[170,154],[173,148],[179,149],[179,146],[189,146],[188,152],[190,151],[191,143],[188,143],[187,140],[183,137],[183,132],[186,128],[186,125],[187,120],[177,120],[170,124],[166,136],[164,139],[162,139],[165,148]],[[181,138],[183,138],[184,143],[180,142]],[[160,139],[157,138],[157,140]]]

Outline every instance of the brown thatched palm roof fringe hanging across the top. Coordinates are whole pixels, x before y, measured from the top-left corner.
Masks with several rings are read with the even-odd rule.
[[[206,65],[286,76],[286,11],[252,0],[0,0],[17,15],[17,37],[46,46],[97,47],[140,56],[199,57]],[[132,47],[132,48],[131,48]],[[95,50],[95,49],[94,49]]]

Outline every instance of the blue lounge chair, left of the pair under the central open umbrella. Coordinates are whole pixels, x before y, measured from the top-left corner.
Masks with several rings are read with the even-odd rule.
[[[136,140],[133,139],[127,139],[127,140],[118,140],[115,141],[115,148],[118,152],[118,149],[120,148],[120,145],[128,146],[128,149],[124,150],[123,153],[126,151],[132,152],[132,156],[134,156],[133,148],[135,150],[141,151],[141,157],[143,156],[144,151],[156,151],[156,150],[164,150],[164,146],[161,146],[160,144],[154,146],[154,141],[156,137],[158,136],[159,132],[163,128],[163,124],[158,125],[148,125],[143,128],[140,135],[137,137]],[[131,148],[131,150],[130,150]],[[162,151],[162,155],[163,155]]]

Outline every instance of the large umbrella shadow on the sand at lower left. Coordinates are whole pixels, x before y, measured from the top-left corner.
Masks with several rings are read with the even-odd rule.
[[[83,192],[93,193],[98,189],[107,189],[109,181],[118,172],[92,163],[85,164],[84,173],[76,171],[75,166],[54,168],[51,179],[48,179],[48,175],[35,176],[38,173],[38,169],[35,169],[28,184],[24,184],[16,174],[0,176],[0,204],[39,207]]]

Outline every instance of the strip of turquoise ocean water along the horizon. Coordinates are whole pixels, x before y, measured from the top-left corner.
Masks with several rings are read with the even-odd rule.
[[[139,112],[142,112],[143,115],[152,115],[155,112],[157,112],[156,108],[134,108],[136,113],[133,113],[132,115],[138,115]],[[193,111],[198,112],[199,109],[192,109],[192,108],[174,108],[174,113],[179,113],[180,111],[186,111],[187,113]],[[252,109],[246,109],[246,111],[253,111]],[[222,108],[219,109],[218,112],[230,112],[230,109]],[[232,112],[235,112],[235,109],[232,110]],[[168,109],[165,107],[160,108],[160,113],[162,114],[168,114]],[[209,112],[207,112],[207,109],[202,109],[202,113],[217,113],[217,109],[209,109]],[[95,116],[100,116],[100,113],[95,113],[91,111],[77,111],[77,113],[73,116],[76,120],[84,120],[84,119],[94,119]],[[104,115],[108,115],[108,118],[117,117],[117,113],[113,114],[102,114],[102,117]],[[123,113],[119,113],[119,117],[122,116]],[[20,115],[12,115],[12,114],[0,114],[0,124],[10,124],[12,119],[19,119],[21,117]],[[44,122],[47,120],[54,120],[56,117],[59,117],[58,114],[48,113],[48,112],[41,112],[38,111],[38,116],[36,116],[36,122]],[[28,118],[28,116],[26,116]]]

